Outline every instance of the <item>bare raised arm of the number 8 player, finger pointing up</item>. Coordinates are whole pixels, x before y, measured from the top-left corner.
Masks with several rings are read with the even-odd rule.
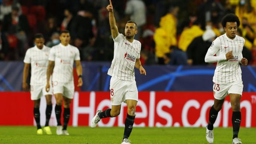
[[[109,0],[109,5],[107,6],[107,10],[109,12],[109,24],[110,24],[110,29],[111,29],[111,35],[115,39],[118,36],[118,28],[116,26],[116,20],[114,17],[114,12],[113,12],[113,6],[111,0]]]

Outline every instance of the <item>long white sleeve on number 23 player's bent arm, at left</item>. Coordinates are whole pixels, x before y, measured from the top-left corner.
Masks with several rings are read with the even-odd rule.
[[[219,50],[220,50],[220,38],[216,38],[213,42],[210,48],[208,49],[206,56],[204,58],[205,62],[208,63],[214,63],[214,62],[220,62],[226,60],[226,55],[221,56],[214,56]]]

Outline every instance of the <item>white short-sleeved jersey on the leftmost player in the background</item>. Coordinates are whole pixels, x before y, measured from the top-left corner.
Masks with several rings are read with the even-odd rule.
[[[26,51],[24,63],[31,64],[30,85],[46,84],[46,72],[50,48],[43,46],[42,50],[34,46]]]

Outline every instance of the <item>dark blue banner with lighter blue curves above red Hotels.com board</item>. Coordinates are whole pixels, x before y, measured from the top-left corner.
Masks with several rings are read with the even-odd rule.
[[[0,62],[0,91],[21,91],[23,62]],[[110,63],[82,62],[82,91],[108,91]],[[135,70],[139,91],[212,91],[215,66],[144,66]],[[241,66],[244,92],[256,92],[256,66]]]

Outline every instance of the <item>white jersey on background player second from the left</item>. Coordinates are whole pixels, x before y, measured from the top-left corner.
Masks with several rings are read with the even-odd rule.
[[[50,50],[49,60],[55,62],[52,74],[53,82],[74,82],[74,60],[80,60],[78,48],[70,44],[53,46]]]

